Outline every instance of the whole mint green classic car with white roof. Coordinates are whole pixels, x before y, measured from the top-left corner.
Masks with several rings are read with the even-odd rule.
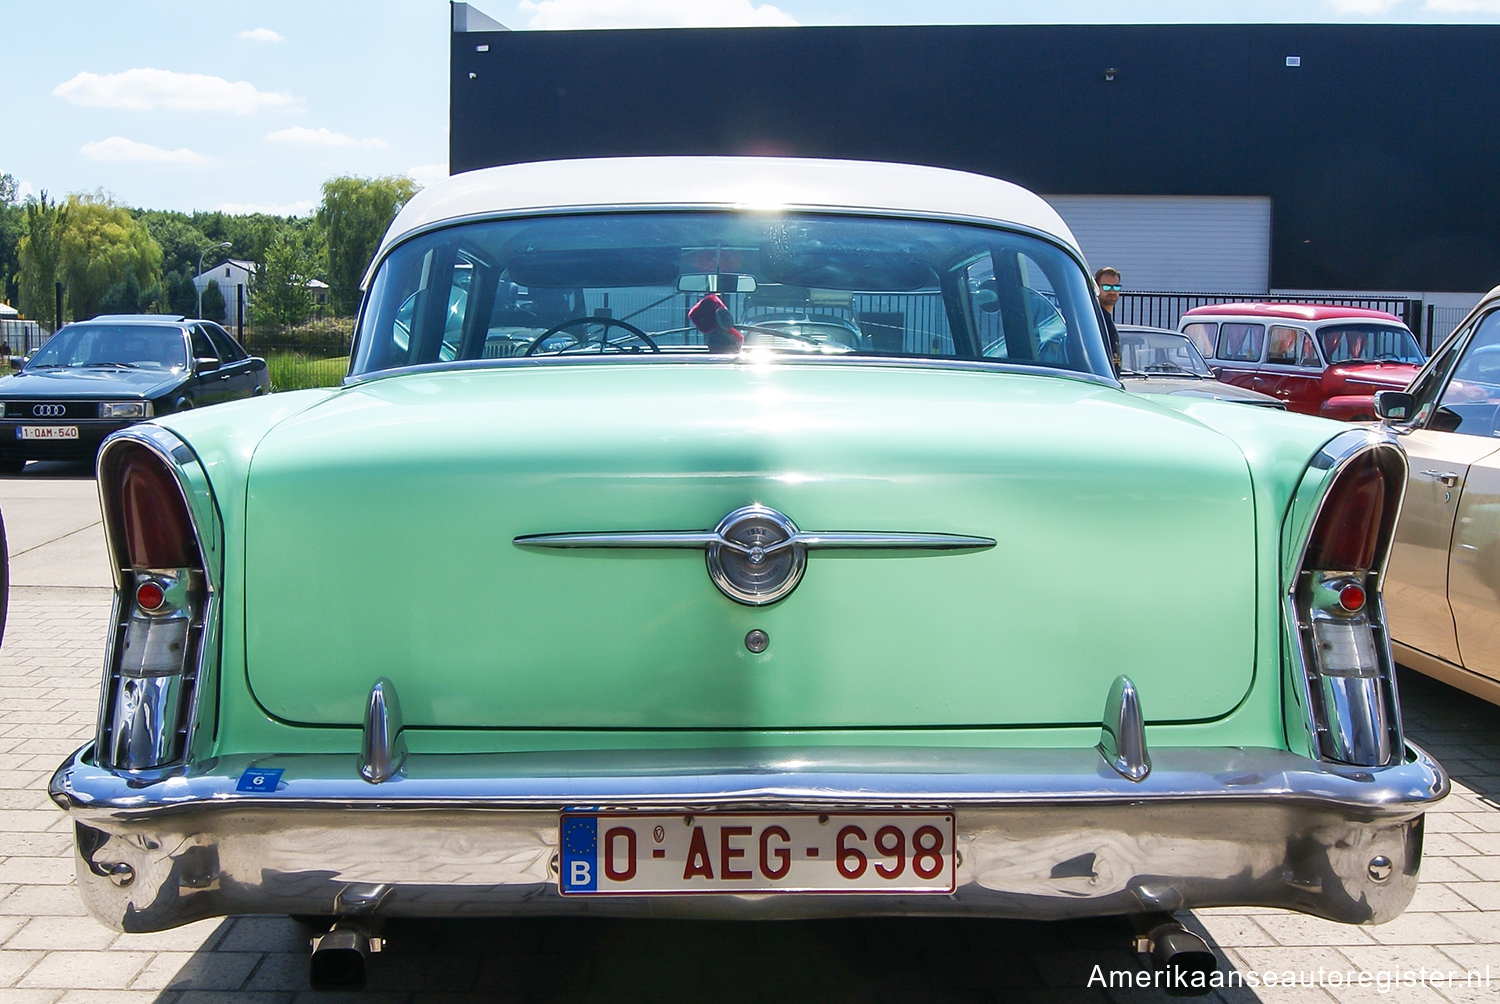
[[[1404,455],[1126,393],[1088,276],[936,168],[422,192],[340,387],[104,447],[88,909],[322,918],[326,981],[398,915],[1398,915]]]

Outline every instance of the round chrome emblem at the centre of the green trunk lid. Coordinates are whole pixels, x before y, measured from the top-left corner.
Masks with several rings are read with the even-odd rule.
[[[738,603],[774,603],[802,579],[807,548],[795,540],[796,524],[774,509],[736,509],[714,530],[708,545],[708,576]]]

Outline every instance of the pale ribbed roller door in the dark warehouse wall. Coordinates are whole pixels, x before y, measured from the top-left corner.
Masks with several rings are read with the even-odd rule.
[[[1270,200],[1210,195],[1047,195],[1090,269],[1126,290],[1266,293]]]

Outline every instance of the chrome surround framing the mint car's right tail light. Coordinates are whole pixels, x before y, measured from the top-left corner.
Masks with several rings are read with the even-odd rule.
[[[1406,504],[1406,479],[1408,476],[1406,450],[1401,449],[1400,440],[1394,432],[1384,426],[1374,428],[1359,428],[1347,429],[1340,432],[1332,440],[1323,444],[1323,447],[1312,456],[1308,468],[1322,468],[1328,473],[1323,476],[1322,485],[1317,489],[1317,500],[1312,506],[1312,512],[1306,522],[1296,531],[1298,537],[1288,551],[1288,561],[1282,566],[1282,585],[1284,591],[1281,594],[1281,618],[1282,630],[1286,632],[1287,647],[1292,651],[1292,665],[1296,671],[1298,683],[1298,702],[1302,705],[1304,726],[1308,729],[1308,737],[1312,741],[1314,756],[1320,755],[1318,740],[1317,740],[1317,722],[1312,717],[1312,678],[1310,674],[1310,666],[1306,662],[1306,653],[1302,644],[1300,632],[1300,617],[1298,612],[1296,591],[1298,579],[1302,572],[1302,566],[1306,561],[1308,546],[1312,540],[1312,530],[1317,527],[1318,518],[1323,515],[1323,507],[1328,504],[1328,497],[1338,482],[1338,477],[1353,464],[1356,459],[1377,449],[1394,449],[1396,456],[1401,458],[1401,500],[1396,503],[1396,513],[1390,521],[1392,537],[1383,542],[1383,551],[1377,555],[1376,567],[1371,569],[1374,576],[1374,588],[1368,590],[1368,599],[1365,600],[1371,606],[1374,614],[1371,621],[1371,629],[1376,636],[1376,657],[1380,662],[1382,678],[1389,683],[1390,696],[1390,714],[1394,722],[1392,749],[1400,750],[1406,744],[1406,731],[1401,725],[1401,693],[1396,690],[1396,675],[1395,675],[1395,657],[1390,654],[1390,632],[1386,627],[1386,609],[1383,585],[1386,578],[1386,566],[1390,560],[1390,548],[1395,543],[1394,528],[1401,521],[1401,507]],[[1293,516],[1294,503],[1287,510],[1287,518]],[[1320,758],[1322,759],[1322,758]],[[1334,762],[1334,761],[1323,761]]]

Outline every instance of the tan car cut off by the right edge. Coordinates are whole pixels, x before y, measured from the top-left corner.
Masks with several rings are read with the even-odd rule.
[[[1410,459],[1384,584],[1396,662],[1500,704],[1500,287],[1377,410]]]

